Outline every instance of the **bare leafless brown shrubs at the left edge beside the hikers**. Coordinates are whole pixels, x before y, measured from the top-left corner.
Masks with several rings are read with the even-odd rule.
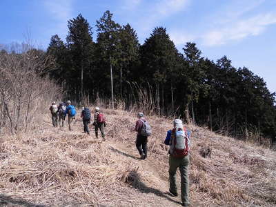
[[[51,63],[39,50],[0,54],[0,128],[26,132],[39,126],[39,116],[60,96],[57,85],[45,76]]]

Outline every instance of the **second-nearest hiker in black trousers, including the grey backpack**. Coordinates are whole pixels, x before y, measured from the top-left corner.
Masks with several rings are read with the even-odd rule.
[[[137,132],[136,147],[141,156],[140,158],[146,159],[148,156],[148,136],[151,135],[151,128],[148,124],[148,121],[146,121],[143,112],[139,112],[137,117],[138,120],[136,121],[135,125],[135,131]]]

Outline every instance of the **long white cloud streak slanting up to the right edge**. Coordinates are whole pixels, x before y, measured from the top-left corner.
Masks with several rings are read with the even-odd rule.
[[[259,14],[255,17],[231,23],[230,26],[227,25],[219,29],[210,30],[201,38],[206,46],[222,45],[230,41],[262,34],[267,26],[275,23],[276,14]]]

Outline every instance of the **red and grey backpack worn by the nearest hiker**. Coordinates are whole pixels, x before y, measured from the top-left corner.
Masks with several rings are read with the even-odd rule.
[[[185,157],[190,150],[190,139],[187,135],[187,130],[178,130],[174,128],[172,130],[172,156],[173,157]]]

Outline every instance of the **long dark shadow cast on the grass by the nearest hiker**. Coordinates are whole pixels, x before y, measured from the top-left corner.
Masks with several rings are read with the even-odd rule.
[[[168,199],[169,201],[175,203],[175,204],[182,204],[179,201],[176,201],[175,199],[172,199],[170,196],[170,193],[164,193],[160,190],[157,190],[155,188],[150,188],[146,186],[140,179],[139,174],[136,170],[130,171],[128,177],[126,178],[126,183],[130,184],[133,188],[139,190],[141,193],[153,193],[159,197]]]

